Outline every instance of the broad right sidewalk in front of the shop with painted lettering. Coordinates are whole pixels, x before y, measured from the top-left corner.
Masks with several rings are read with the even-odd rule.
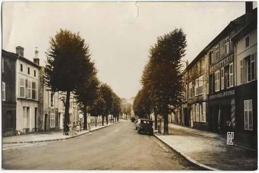
[[[227,145],[224,135],[173,123],[169,123],[169,135],[159,134],[157,130],[154,131],[154,135],[202,170],[251,171],[258,169],[257,142],[252,140],[243,140],[234,136],[234,145]]]

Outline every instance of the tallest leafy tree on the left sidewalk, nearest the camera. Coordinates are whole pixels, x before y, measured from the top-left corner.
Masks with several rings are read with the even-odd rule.
[[[62,30],[50,38],[50,47],[46,55],[46,67],[44,83],[52,88],[52,91],[70,92],[77,85],[85,81],[91,69],[89,46],[81,38],[79,33],[75,34],[69,30]],[[66,99],[64,124],[69,123],[69,99]],[[66,134],[64,128],[63,135]]]

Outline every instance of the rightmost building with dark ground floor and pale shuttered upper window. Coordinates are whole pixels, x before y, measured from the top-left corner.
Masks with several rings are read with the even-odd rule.
[[[249,4],[248,4],[249,5]],[[235,45],[236,132],[257,136],[257,9],[246,9],[246,25],[232,38]],[[257,139],[257,138],[256,138]]]

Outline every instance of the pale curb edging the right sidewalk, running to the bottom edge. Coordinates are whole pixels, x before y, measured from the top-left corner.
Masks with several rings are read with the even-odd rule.
[[[173,148],[169,143],[167,143],[166,141],[162,140],[161,138],[158,138],[155,134],[154,134],[155,138],[159,139],[161,142],[163,142],[164,144],[166,144],[169,148],[171,148],[174,152],[176,152],[178,155],[182,156],[185,160],[187,160],[188,162],[202,168],[203,170],[206,171],[221,171],[221,170],[217,170],[215,168],[211,168],[209,166],[206,166],[200,162],[197,162],[196,160],[192,159],[190,156],[187,156],[185,154],[182,154],[181,152],[178,151],[178,149],[176,149],[175,147]]]

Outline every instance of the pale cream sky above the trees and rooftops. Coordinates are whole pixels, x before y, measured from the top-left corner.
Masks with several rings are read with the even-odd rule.
[[[254,6],[257,6],[255,3]],[[135,97],[158,36],[182,28],[189,63],[231,20],[245,13],[245,2],[3,2],[2,49],[33,61],[35,47],[45,66],[50,37],[59,30],[80,32],[89,44],[99,80],[121,98]]]

